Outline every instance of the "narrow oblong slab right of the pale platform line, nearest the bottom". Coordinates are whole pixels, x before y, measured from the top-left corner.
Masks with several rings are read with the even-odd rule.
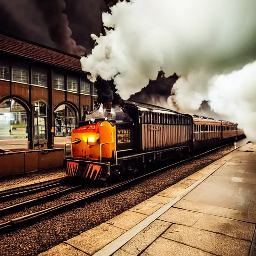
[[[122,251],[129,253],[129,255],[138,255],[154,240],[157,239],[165,230],[170,227],[171,223],[160,220],[155,220],[147,228],[141,231],[138,235],[127,242],[122,248]],[[114,254],[115,255],[115,254]]]

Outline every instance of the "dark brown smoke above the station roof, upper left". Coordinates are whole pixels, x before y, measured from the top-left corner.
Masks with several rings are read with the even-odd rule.
[[[0,30],[65,52],[84,55],[71,38],[64,0],[0,0]]]

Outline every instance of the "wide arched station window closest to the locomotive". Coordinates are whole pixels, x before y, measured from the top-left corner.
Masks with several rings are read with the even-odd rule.
[[[77,113],[67,104],[60,105],[54,111],[55,119],[55,136],[71,136],[72,130],[77,124]]]

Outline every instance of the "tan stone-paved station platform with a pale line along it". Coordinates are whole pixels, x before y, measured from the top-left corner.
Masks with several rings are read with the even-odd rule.
[[[255,195],[256,145],[248,143],[40,255],[256,255]]]

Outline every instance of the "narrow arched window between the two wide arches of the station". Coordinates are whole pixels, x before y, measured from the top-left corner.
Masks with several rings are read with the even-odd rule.
[[[47,104],[34,102],[34,139],[47,139]]]

